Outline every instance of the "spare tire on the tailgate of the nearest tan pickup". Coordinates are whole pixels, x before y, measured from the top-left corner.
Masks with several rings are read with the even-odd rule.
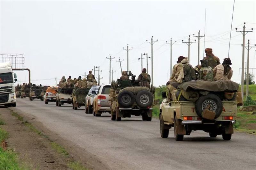
[[[216,119],[217,117],[220,116],[222,112],[222,109],[223,109],[222,101],[217,95],[212,93],[201,96],[196,101],[196,114],[201,118],[203,118],[202,113],[204,109],[208,109],[212,112],[215,112],[214,119]]]

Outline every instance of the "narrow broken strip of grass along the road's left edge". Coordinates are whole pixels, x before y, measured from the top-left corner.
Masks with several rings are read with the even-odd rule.
[[[16,112],[12,112],[13,116],[16,116],[20,121],[23,121],[24,118],[22,116],[20,116],[18,113]],[[37,135],[42,136],[47,138],[48,140],[51,141],[51,147],[57,152],[60,153],[62,156],[64,156],[65,158],[69,157],[69,153],[68,151],[66,151],[66,149],[64,147],[62,147],[60,144],[52,141],[47,135],[45,135],[44,133],[42,133],[40,130],[36,129],[36,127],[34,127],[31,123],[29,123],[28,121],[23,122],[29,129],[31,129],[33,132],[35,132]],[[1,137],[1,132],[0,132],[0,137]],[[1,139],[1,138],[0,138]],[[1,165],[1,164],[0,164]],[[73,170],[87,170],[87,168],[85,168],[81,163],[77,162],[77,161],[73,161],[70,160],[68,165],[69,168],[73,169]],[[1,166],[0,166],[0,170]]]

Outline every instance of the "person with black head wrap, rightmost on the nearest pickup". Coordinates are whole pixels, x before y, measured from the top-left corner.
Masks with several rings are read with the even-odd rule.
[[[223,63],[217,65],[213,69],[214,80],[215,81],[230,80],[233,75],[233,70],[230,67],[230,65],[232,65],[230,58],[224,58]]]

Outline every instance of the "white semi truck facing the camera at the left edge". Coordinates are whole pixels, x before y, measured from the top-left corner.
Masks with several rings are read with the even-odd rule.
[[[0,105],[16,107],[16,78],[11,62],[0,63]]]

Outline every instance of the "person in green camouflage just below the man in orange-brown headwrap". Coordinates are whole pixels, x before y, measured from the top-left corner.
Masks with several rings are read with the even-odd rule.
[[[212,67],[208,66],[208,61],[203,59],[200,61],[202,68],[199,70],[199,79],[204,81],[214,81]]]

